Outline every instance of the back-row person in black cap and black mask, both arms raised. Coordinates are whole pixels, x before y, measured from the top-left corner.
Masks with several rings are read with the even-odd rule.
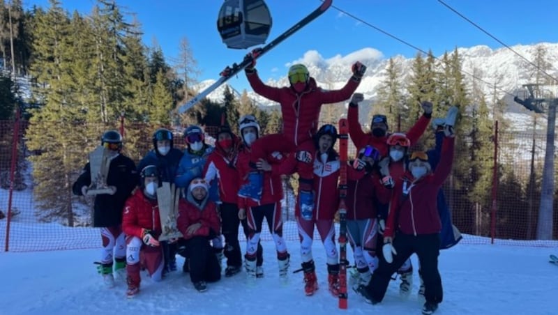
[[[361,150],[366,145],[373,146],[377,148],[382,157],[388,155],[388,146],[386,140],[389,137],[388,133],[388,121],[384,115],[374,115],[372,121],[370,122],[370,133],[364,133],[362,130],[361,123],[359,123],[359,102],[364,100],[364,96],[361,93],[354,93],[349,102],[349,111],[347,114],[347,120],[349,121],[349,136],[356,146],[356,150]],[[430,123],[430,117],[432,117],[432,103],[422,102],[424,114],[418,121],[413,125],[409,131],[406,132],[407,138],[411,141],[411,145],[416,144],[416,141],[423,135],[426,128],[428,128],[428,123]]]

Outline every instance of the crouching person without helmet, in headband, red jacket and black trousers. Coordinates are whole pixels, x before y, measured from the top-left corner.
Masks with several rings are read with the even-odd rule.
[[[190,280],[199,292],[207,290],[206,282],[221,279],[221,266],[209,241],[220,231],[216,203],[209,200],[209,185],[203,178],[194,178],[179,202],[176,224],[183,238],[190,263]]]

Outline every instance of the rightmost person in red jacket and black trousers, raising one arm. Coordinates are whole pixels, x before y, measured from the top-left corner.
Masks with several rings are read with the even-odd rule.
[[[423,314],[432,314],[442,302],[442,279],[438,270],[440,230],[437,194],[451,172],[453,163],[453,128],[444,128],[442,153],[435,171],[424,152],[414,152],[401,187],[395,187],[384,231],[384,258],[364,290],[372,304],[382,302],[393,272],[415,253],[421,265],[425,286]]]

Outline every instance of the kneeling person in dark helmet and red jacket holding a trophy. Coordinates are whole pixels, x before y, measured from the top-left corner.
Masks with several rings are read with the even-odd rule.
[[[161,234],[157,188],[160,174],[155,165],[148,165],[140,172],[140,189],[126,200],[122,215],[122,229],[126,233],[126,272],[128,298],[140,293],[140,251],[142,264],[153,281],[163,276],[163,249],[158,237]]]

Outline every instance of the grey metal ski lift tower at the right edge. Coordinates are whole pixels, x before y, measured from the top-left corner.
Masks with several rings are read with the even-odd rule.
[[[527,89],[525,98],[515,96],[513,100],[525,108],[538,114],[547,114],[547,134],[545,162],[543,167],[543,184],[541,187],[541,205],[538,208],[538,222],[536,238],[538,240],[552,240],[553,201],[554,201],[554,154],[556,107],[558,107],[558,85],[524,84]]]

